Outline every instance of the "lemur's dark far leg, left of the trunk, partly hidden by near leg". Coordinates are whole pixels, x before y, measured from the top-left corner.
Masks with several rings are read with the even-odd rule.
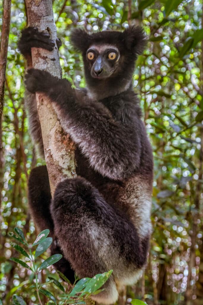
[[[58,241],[54,236],[54,223],[50,213],[51,191],[46,166],[34,168],[30,173],[28,181],[28,201],[31,214],[37,228],[42,231],[50,230],[50,236],[53,238],[51,245],[51,255],[62,253],[58,246]],[[54,264],[54,267],[61,271],[73,283],[75,280],[74,271],[64,257]]]

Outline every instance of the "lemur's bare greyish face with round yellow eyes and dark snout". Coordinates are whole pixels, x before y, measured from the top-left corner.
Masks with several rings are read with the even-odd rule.
[[[119,65],[120,52],[114,45],[94,44],[86,52],[86,60],[93,78],[110,77]]]

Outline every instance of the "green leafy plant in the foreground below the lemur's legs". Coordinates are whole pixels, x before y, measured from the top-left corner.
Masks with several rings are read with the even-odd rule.
[[[60,277],[63,278],[65,282],[69,284],[68,291],[66,291],[67,287],[64,287],[63,285],[61,285],[61,283],[58,280],[50,276],[48,276],[47,282],[40,283],[38,279],[38,274],[43,269],[46,269],[52,264],[58,262],[62,257],[61,254],[54,254],[41,263],[39,256],[42,253],[44,253],[52,243],[52,238],[47,237],[48,234],[49,234],[48,229],[41,231],[40,234],[37,236],[37,239],[33,242],[33,244],[29,245],[25,239],[23,231],[20,228],[15,228],[14,233],[9,233],[9,235],[10,237],[14,238],[16,241],[20,242],[22,246],[19,246],[19,244],[15,242],[11,242],[10,244],[14,249],[16,249],[16,251],[21,253],[23,257],[26,258],[26,262],[28,264],[25,263],[23,260],[20,260],[15,257],[12,257],[10,260],[20,264],[24,268],[29,269],[31,273],[34,275],[33,277],[30,278],[35,279],[35,281],[34,280],[33,282],[31,281],[29,286],[30,288],[33,287],[35,288],[40,305],[43,305],[40,298],[41,294],[45,295],[49,299],[46,305],[85,304],[86,299],[90,295],[95,295],[103,290],[100,288],[110,277],[113,270],[110,270],[103,274],[97,274],[93,278],[82,278],[77,283],[75,280],[75,283],[73,285],[71,285],[68,278],[66,278],[64,274],[62,274],[60,271],[57,271]],[[36,246],[37,248],[35,249]],[[55,287],[59,289],[60,294],[57,293],[57,296],[59,296],[60,298],[59,301],[56,300],[56,297],[47,290],[46,285],[50,283],[53,283]],[[44,286],[46,287],[46,289],[44,289]],[[26,302],[23,300],[21,296],[13,295],[12,300],[14,305],[26,305]]]

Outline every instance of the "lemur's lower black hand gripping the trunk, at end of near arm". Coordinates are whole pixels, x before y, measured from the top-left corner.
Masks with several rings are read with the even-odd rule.
[[[29,69],[25,75],[25,85],[28,91],[35,92],[47,92],[47,90],[57,82],[57,78],[53,77],[49,72]]]

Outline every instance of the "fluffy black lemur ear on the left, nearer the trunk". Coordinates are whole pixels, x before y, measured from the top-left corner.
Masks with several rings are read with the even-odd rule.
[[[71,33],[72,45],[81,52],[85,52],[89,46],[90,35],[85,30],[75,29]]]

